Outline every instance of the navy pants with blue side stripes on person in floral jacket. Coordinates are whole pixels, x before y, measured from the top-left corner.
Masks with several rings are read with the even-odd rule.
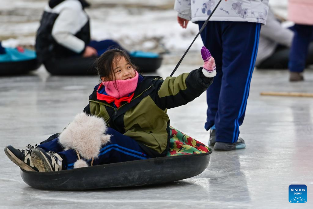
[[[199,21],[199,29],[204,21]],[[259,23],[209,21],[201,33],[216,63],[217,75],[207,89],[206,130],[215,125],[216,141],[234,143],[249,96],[258,51]]]

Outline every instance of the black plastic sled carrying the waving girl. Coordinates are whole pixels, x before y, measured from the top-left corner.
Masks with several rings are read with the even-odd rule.
[[[212,151],[201,154],[134,160],[57,172],[21,169],[26,184],[43,190],[89,190],[156,185],[201,174]]]

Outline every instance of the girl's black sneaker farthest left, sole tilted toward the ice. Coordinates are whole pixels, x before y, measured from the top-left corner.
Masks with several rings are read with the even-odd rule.
[[[37,144],[35,145],[37,146]],[[32,159],[30,157],[30,153],[32,152],[34,146],[28,144],[28,149],[15,149],[11,145],[4,148],[5,154],[8,156],[8,158],[15,163],[18,167],[20,167],[23,170],[28,171],[38,171],[36,166],[34,166]]]

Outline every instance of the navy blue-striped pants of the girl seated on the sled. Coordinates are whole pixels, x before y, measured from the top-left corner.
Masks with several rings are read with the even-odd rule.
[[[93,165],[149,158],[134,139],[119,133],[113,128],[108,128],[106,133],[112,135],[110,142],[100,148],[100,154],[98,158],[94,160]],[[60,154],[62,158],[65,158],[65,165],[62,165],[62,169],[72,169],[77,160],[77,154],[73,149],[63,151],[63,148],[58,141],[59,138],[55,138],[51,141],[40,144],[37,147],[40,147],[47,152],[54,151]],[[87,163],[90,164],[90,160]]]

